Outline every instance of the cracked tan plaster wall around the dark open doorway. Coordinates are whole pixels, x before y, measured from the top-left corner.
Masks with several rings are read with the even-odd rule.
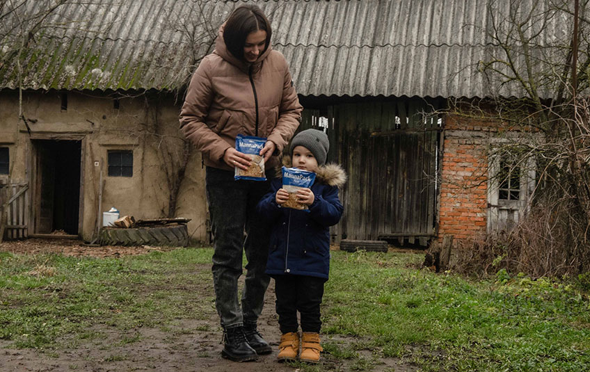
[[[0,146],[9,147],[11,181],[33,181],[31,140],[82,141],[79,233],[86,241],[92,238],[97,223],[101,167],[101,212],[115,207],[121,216],[159,218],[168,212],[168,180],[173,177],[174,164],[182,158],[180,102],[166,95],[121,97],[119,102],[115,109],[113,99],[104,93],[67,92],[67,110],[62,110],[61,92],[24,92],[22,108],[31,129],[29,135],[23,120],[18,119],[18,93],[0,92]],[[107,175],[107,152],[111,149],[132,150],[133,177]],[[175,216],[191,218],[189,235],[193,240],[205,241],[205,172],[198,152],[190,156]]]

